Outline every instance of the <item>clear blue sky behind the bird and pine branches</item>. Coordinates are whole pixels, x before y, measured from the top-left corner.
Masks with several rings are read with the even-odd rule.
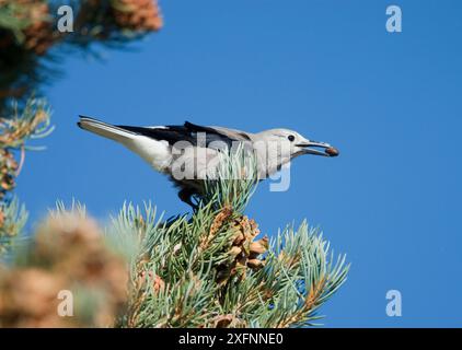
[[[385,31],[385,8],[403,33]],[[462,2],[161,2],[165,26],[107,60],[70,57],[46,90],[56,131],[30,153],[18,195],[42,218],[56,199],[102,220],[124,200],[187,207],[140,159],[83,132],[77,116],[134,125],[287,127],[337,159],[294,162],[287,192],[261,186],[247,213],[264,233],[308,218],[349,279],[322,308],[330,327],[462,326]],[[385,315],[397,289],[403,316]]]

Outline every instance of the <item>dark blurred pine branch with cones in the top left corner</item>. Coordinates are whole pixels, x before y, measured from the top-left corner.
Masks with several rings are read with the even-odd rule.
[[[162,27],[155,0],[71,0],[73,32],[58,30],[62,1],[0,0],[0,113],[11,98],[24,100],[59,70],[60,54],[97,55],[94,44],[125,48]],[[53,49],[51,49],[53,48]]]

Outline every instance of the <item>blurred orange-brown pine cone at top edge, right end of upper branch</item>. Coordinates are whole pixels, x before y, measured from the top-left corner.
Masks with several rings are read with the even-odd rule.
[[[159,31],[163,24],[155,0],[115,0],[113,15],[119,27],[131,31]]]

